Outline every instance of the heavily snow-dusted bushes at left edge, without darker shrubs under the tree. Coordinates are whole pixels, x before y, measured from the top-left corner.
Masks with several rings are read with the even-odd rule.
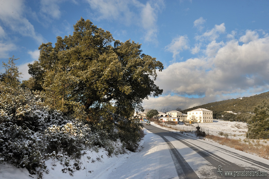
[[[11,93],[0,84],[0,162],[42,177],[48,157],[80,157],[96,138],[87,124],[45,106],[39,94],[25,89]]]

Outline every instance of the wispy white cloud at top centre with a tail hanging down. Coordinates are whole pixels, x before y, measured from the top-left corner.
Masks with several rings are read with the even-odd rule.
[[[158,28],[156,22],[158,13],[164,7],[163,0],[148,1],[146,4],[137,0],[87,0],[87,2],[93,10],[97,10],[97,20],[115,20],[127,26],[136,24],[143,28],[143,39],[146,42],[157,43]]]

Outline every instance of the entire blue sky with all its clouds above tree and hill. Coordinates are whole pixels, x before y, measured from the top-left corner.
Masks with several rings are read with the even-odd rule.
[[[28,79],[42,42],[54,44],[80,17],[90,19],[163,63],[156,80],[163,94],[144,108],[186,109],[269,91],[268,9],[265,0],[0,0],[0,60],[20,58]]]

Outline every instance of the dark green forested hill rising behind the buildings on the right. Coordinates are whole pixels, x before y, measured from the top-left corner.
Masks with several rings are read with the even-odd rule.
[[[233,111],[235,113],[241,112],[252,112],[254,111],[254,108],[259,105],[263,100],[269,101],[269,91],[262,93],[262,94],[256,94],[254,96],[250,97],[242,97],[237,99],[231,99],[231,100],[224,100],[224,101],[218,101],[218,102],[210,102],[208,104],[195,106],[189,109],[185,109],[182,112],[186,113],[187,111],[191,111],[193,109],[197,108],[205,108],[211,111]]]

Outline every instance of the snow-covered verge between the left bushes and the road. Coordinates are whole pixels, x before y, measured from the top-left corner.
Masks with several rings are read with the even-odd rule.
[[[107,152],[99,149],[99,152],[85,151],[81,157],[80,170],[71,176],[66,167],[60,161],[47,160],[48,174],[44,173],[44,179],[74,179],[74,178],[177,178],[174,163],[169,149],[160,136],[144,129],[145,137],[140,143],[138,152],[107,156]],[[72,161],[70,162],[72,163]],[[64,172],[62,172],[62,170]],[[25,168],[16,168],[8,163],[0,164],[0,178],[4,179],[32,179],[37,175],[30,175]]]

